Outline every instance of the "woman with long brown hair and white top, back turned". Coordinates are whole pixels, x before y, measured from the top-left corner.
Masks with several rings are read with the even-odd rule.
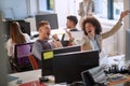
[[[6,42],[8,56],[14,57],[14,46],[17,43],[30,42],[29,35],[21,31],[21,26],[17,22],[10,24],[10,39]]]

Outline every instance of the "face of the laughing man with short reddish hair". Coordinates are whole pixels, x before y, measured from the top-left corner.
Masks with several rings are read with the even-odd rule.
[[[39,28],[40,39],[49,40],[50,33],[51,33],[50,25],[44,25],[44,26]]]

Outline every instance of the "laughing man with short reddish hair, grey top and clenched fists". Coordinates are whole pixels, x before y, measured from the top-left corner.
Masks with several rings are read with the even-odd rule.
[[[62,47],[62,44],[56,34],[54,34],[53,42],[48,42],[51,34],[50,24],[46,20],[42,20],[38,25],[39,37],[38,40],[32,45],[32,54],[41,60],[41,52],[46,49],[52,49]]]

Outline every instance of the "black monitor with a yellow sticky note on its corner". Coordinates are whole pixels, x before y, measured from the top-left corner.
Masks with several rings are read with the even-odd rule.
[[[70,53],[70,52],[79,52],[80,46],[68,46],[61,47],[55,49],[48,49],[41,52],[41,68],[42,68],[42,76],[44,75],[53,75],[53,56],[56,54]]]

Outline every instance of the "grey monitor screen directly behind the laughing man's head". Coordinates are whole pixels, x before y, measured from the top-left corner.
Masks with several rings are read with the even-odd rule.
[[[42,14],[36,15],[36,26],[38,30],[38,24],[41,20],[48,20],[50,23],[51,29],[58,29],[57,14]]]

